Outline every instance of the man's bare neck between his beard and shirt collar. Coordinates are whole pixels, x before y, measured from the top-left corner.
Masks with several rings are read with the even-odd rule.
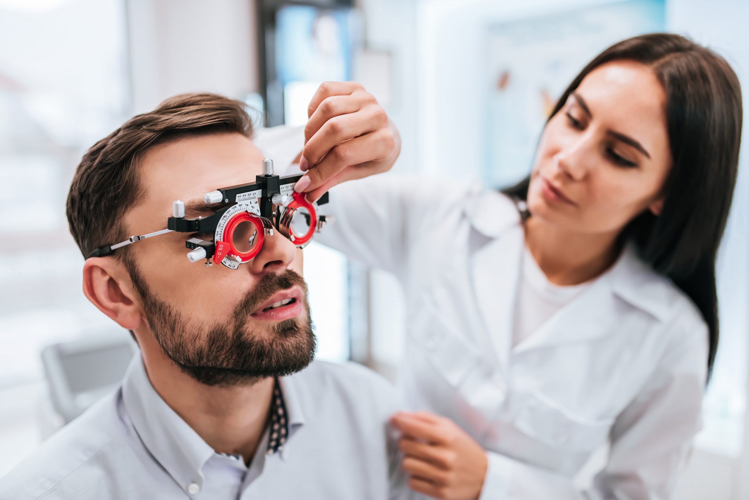
[[[204,385],[181,371],[152,335],[139,337],[148,379],[166,404],[214,451],[241,455],[249,463],[267,425],[273,379],[229,387]]]

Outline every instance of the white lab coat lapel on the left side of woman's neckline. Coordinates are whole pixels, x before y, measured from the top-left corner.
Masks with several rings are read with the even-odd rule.
[[[523,245],[523,227],[514,224],[473,254],[476,303],[491,347],[505,374],[509,371],[512,324]]]

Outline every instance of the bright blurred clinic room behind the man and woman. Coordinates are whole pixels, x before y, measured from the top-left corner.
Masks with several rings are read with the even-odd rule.
[[[530,169],[554,101],[602,49],[688,35],[749,82],[745,0],[0,0],[0,475],[111,390],[129,335],[83,296],[64,201],[86,148],[187,91],[300,126],[325,80],[357,80],[402,138],[396,172],[505,186]],[[745,134],[718,263],[721,347],[679,498],[749,499],[749,186]],[[295,156],[298,150],[288,151]],[[306,249],[318,357],[393,379],[401,290]]]

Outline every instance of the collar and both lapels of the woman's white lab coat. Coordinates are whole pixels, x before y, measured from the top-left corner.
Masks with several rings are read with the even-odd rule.
[[[488,237],[473,254],[472,273],[479,304],[497,362],[509,369],[515,299],[520,278],[524,232],[515,202],[500,192],[484,192],[465,204],[472,227]],[[538,335],[518,345],[518,351],[534,346],[583,341],[607,335],[619,317],[617,298],[645,311],[657,320],[667,320],[666,280],[637,257],[634,246],[625,246],[619,259],[568,307],[552,317]],[[498,284],[502,284],[498,286]],[[505,295],[506,296],[503,296]],[[584,320],[583,320],[584,318]]]

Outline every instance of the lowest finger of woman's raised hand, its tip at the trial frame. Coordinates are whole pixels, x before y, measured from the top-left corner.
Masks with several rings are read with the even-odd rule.
[[[357,165],[357,169],[362,168],[362,171],[357,173],[360,174],[360,177],[377,173],[373,171],[373,168],[367,168],[368,163],[375,168],[380,168],[380,171],[384,171],[387,165],[380,162],[392,154],[394,144],[395,138],[393,138],[392,132],[386,128],[338,144],[327,153],[318,165],[309,168],[309,171],[297,181],[294,190],[297,192],[312,192],[326,184],[330,189],[329,181],[333,180],[333,177],[344,168],[351,165]],[[346,179],[339,179],[339,181],[353,178],[357,177],[351,176]]]

